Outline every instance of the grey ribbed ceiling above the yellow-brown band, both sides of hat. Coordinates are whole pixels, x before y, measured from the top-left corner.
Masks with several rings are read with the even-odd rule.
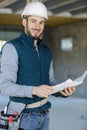
[[[30,1],[43,2],[49,15],[87,16],[87,0],[0,0],[0,12],[19,14]]]

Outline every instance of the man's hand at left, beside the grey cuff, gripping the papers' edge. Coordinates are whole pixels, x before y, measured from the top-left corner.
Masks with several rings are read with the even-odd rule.
[[[41,85],[33,87],[32,95],[36,95],[38,97],[48,97],[53,90],[53,86]]]

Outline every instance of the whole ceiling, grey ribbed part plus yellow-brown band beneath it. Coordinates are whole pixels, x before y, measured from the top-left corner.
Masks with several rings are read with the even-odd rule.
[[[30,1],[41,1],[47,6],[51,19],[51,22],[47,22],[48,25],[52,21],[56,25],[87,20],[87,0],[0,0],[0,25],[6,22],[13,24],[14,21],[17,24],[19,14]]]

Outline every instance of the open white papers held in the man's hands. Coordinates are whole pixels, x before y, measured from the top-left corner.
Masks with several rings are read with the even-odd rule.
[[[51,94],[56,93],[60,90],[63,90],[64,88],[68,88],[68,87],[72,87],[72,86],[76,87],[76,86],[82,84],[86,75],[87,75],[87,71],[85,71],[82,76],[78,77],[75,80],[68,79],[65,82],[55,85],[54,90]]]

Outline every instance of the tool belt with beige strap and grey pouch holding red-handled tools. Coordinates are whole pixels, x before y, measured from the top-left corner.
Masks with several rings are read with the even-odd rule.
[[[47,101],[48,99],[45,98],[41,101],[27,105],[10,101],[6,106],[7,109],[0,112],[0,130],[23,130],[22,128],[19,128],[22,111],[25,108],[40,107]]]

